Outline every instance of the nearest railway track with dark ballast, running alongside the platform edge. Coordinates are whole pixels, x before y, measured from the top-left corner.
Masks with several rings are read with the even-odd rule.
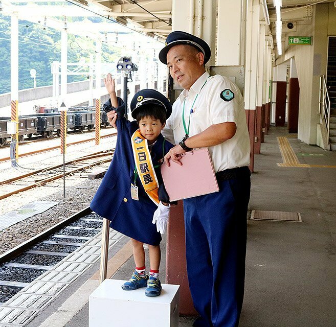
[[[91,240],[102,218],[89,207],[0,255],[0,303]]]

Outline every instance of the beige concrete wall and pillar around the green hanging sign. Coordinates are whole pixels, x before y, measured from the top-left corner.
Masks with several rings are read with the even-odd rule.
[[[297,31],[284,34],[284,55],[279,64],[292,57],[300,84],[298,138],[317,144],[320,75],[326,74],[328,35],[336,35],[336,8],[333,3],[313,6],[313,18],[297,22]],[[312,45],[288,45],[288,36],[312,36]]]

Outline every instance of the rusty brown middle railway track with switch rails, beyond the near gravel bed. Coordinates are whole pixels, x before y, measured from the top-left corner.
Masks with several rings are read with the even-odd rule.
[[[2,191],[5,193],[0,195],[0,200],[10,197],[13,194],[30,190],[36,186],[45,185],[60,179],[63,176],[72,175],[93,166],[103,164],[104,162],[109,162],[113,154],[114,149],[109,151],[99,151],[74,160],[70,160],[65,162],[65,173],[63,173],[63,165],[60,164],[3,180],[0,182],[0,186]]]

